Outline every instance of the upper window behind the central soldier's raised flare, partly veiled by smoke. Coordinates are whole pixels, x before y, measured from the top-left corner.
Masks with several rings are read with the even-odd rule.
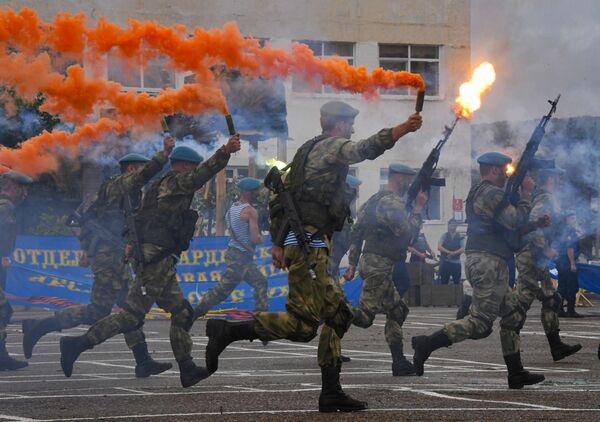
[[[379,44],[379,66],[394,72],[419,73],[427,95],[439,95],[440,47],[437,45]],[[390,89],[387,95],[407,95],[408,88]]]

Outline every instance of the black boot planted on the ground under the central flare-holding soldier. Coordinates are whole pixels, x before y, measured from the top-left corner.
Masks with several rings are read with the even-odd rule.
[[[321,368],[319,412],[356,412],[368,408],[367,402],[355,400],[342,390],[339,366]]]

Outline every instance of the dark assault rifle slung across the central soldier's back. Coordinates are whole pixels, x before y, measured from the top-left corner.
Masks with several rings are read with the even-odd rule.
[[[277,195],[277,200],[281,205],[284,215],[287,217],[288,223],[290,225],[290,229],[296,235],[296,239],[298,240],[298,245],[300,249],[302,249],[302,254],[306,259],[306,263],[308,265],[308,272],[310,277],[313,280],[317,279],[317,274],[315,273],[314,263],[310,259],[310,249],[308,247],[309,239],[306,237],[306,233],[304,232],[304,225],[302,224],[302,220],[300,219],[300,214],[296,208],[296,204],[294,202],[294,198],[292,194],[285,189],[283,184],[283,172],[279,170],[276,166],[273,166],[267,176],[265,177],[265,186],[271,192]]]

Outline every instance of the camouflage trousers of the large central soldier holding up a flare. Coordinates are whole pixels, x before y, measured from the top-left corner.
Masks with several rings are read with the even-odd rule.
[[[255,329],[263,341],[309,342],[323,321],[318,362],[321,367],[338,366],[342,354],[340,339],[352,324],[352,309],[342,289],[329,275],[327,249],[311,248],[310,251],[316,280],[308,272],[302,250],[298,246],[285,247],[284,259],[289,271],[286,312],[257,312]]]

